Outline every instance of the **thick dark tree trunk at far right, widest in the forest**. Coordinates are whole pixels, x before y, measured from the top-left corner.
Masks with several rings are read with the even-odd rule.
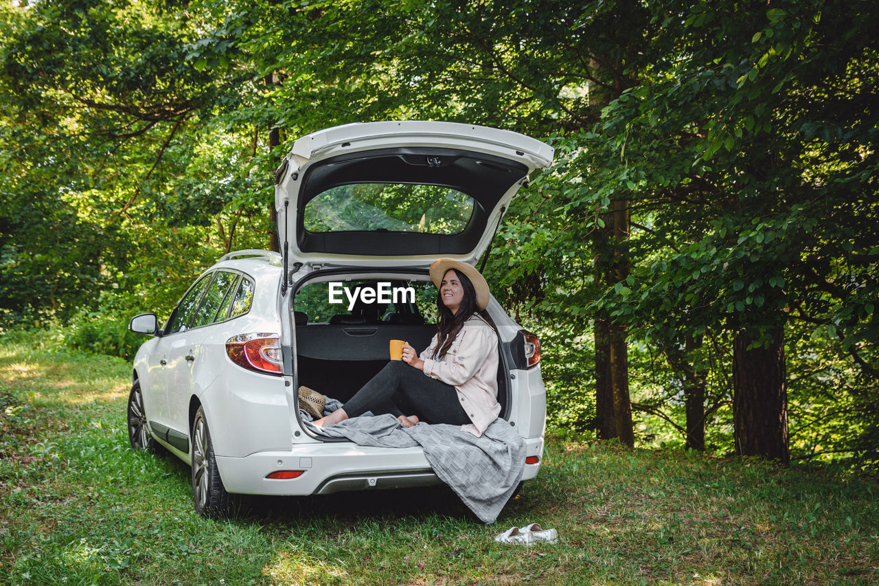
[[[788,464],[788,387],[783,326],[766,348],[748,346],[748,330],[737,333],[732,351],[732,418],[736,450],[743,456]]]

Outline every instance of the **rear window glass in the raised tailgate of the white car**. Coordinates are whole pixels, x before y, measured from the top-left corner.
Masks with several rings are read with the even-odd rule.
[[[310,232],[391,231],[458,234],[473,215],[473,198],[450,187],[355,183],[331,187],[303,212]]]

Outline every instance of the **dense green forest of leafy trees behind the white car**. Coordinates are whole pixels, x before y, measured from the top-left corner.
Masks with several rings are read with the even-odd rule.
[[[0,8],[0,332],[130,357],[272,172],[352,121],[556,148],[486,276],[551,427],[879,466],[879,5],[485,0]]]

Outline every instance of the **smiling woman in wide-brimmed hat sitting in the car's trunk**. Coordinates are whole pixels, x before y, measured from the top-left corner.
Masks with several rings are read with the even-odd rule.
[[[405,343],[402,361],[390,361],[317,427],[371,411],[396,415],[406,428],[450,423],[481,436],[498,418],[498,334],[485,311],[488,283],[476,268],[451,259],[433,261],[431,280],[439,289],[439,324],[430,346],[419,356]]]

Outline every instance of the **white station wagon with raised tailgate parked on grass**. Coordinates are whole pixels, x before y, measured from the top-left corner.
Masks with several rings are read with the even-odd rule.
[[[163,326],[155,313],[131,320],[153,336],[134,358],[131,446],[161,444],[192,465],[206,516],[229,514],[230,494],[439,483],[420,447],[316,436],[297,389],[344,403],[388,363],[390,340],[426,348],[436,332],[432,260],[476,265],[513,195],[552,158],[527,136],[451,122],[301,137],[275,176],[282,254],[229,253]],[[487,310],[500,341],[500,416],[524,438],[522,480],[533,479],[546,422],[539,342],[493,297]]]

